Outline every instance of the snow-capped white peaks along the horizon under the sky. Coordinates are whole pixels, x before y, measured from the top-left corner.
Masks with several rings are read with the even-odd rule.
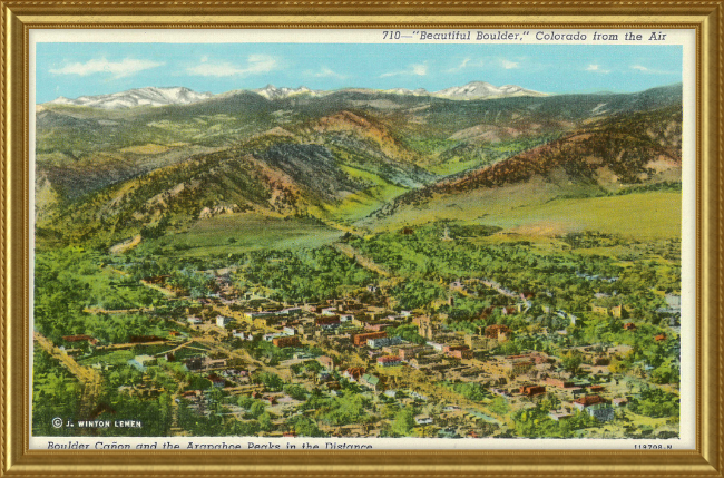
[[[471,81],[463,86],[456,86],[439,91],[430,92],[424,88],[414,90],[405,88],[391,88],[384,90],[368,89],[368,88],[343,88],[341,90],[313,90],[305,86],[299,88],[290,87],[275,87],[267,85],[264,88],[256,88],[250,90],[236,90],[214,95],[212,92],[196,92],[185,87],[147,87],[135,88],[127,91],[114,92],[110,95],[97,96],[81,96],[75,99],[59,97],[49,101],[51,105],[70,105],[70,106],[87,106],[91,108],[104,109],[125,109],[135,108],[138,106],[168,106],[168,105],[190,105],[200,103],[207,99],[222,98],[234,92],[251,91],[260,95],[268,100],[286,99],[293,96],[325,96],[340,91],[368,91],[370,94],[391,94],[403,96],[429,96],[437,98],[446,98],[453,100],[471,100],[471,99],[488,99],[488,98],[506,98],[512,96],[548,96],[547,94],[534,91],[516,85],[505,85],[496,87],[485,81]]]

